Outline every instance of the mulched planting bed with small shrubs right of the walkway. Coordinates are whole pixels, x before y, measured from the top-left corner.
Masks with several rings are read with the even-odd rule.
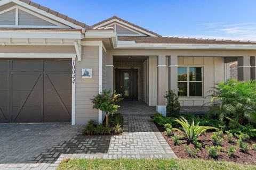
[[[164,139],[166,142],[170,145],[172,150],[174,151],[175,155],[178,156],[178,158],[199,158],[199,159],[206,159],[206,160],[219,160],[219,161],[227,161],[227,162],[236,162],[239,164],[253,164],[256,165],[256,139],[252,138],[250,139],[249,135],[245,133],[229,133],[229,131],[222,132],[220,131],[221,128],[224,127],[221,122],[218,125],[218,121],[215,122],[209,118],[209,121],[205,121],[208,117],[207,115],[203,116],[194,116],[191,114],[185,114],[181,115],[183,117],[186,117],[187,120],[191,123],[192,120],[196,120],[196,122],[203,122],[204,125],[211,125],[216,126],[216,128],[219,126],[219,129],[216,130],[209,130],[207,132],[203,132],[199,137],[197,138],[197,142],[201,146],[195,145],[193,141],[188,141],[186,138],[181,138],[182,133],[179,131],[172,131],[172,134],[167,134],[166,129],[167,126],[172,124],[172,128],[182,129],[177,122],[173,121],[174,118],[171,117],[162,117],[159,114],[155,114],[153,117],[153,120],[159,129],[161,131]],[[207,124],[208,123],[208,124]],[[224,130],[223,130],[224,131]],[[218,137],[219,134],[219,137]],[[230,137],[228,138],[228,134]],[[214,137],[212,137],[214,136]],[[239,139],[240,137],[243,137],[243,141],[240,141],[241,146],[245,145],[242,150],[241,146],[239,146]],[[176,141],[174,138],[179,138]],[[213,140],[217,140],[218,145],[213,142]],[[176,142],[176,143],[175,143]],[[246,147],[247,146],[247,147]],[[219,149],[215,149],[215,151],[218,152],[218,156],[212,157],[209,154],[209,150],[207,150],[207,147],[219,147]],[[229,151],[229,149],[233,149],[232,152]],[[246,150],[247,149],[247,150]]]

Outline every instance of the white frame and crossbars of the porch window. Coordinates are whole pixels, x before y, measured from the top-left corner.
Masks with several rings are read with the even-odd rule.
[[[204,67],[203,66],[194,66],[194,65],[189,65],[189,66],[178,66],[177,70],[179,67],[186,67],[187,68],[187,80],[186,81],[179,81],[177,82],[177,84],[179,82],[186,82],[187,83],[187,96],[179,96],[179,97],[204,97]],[[202,80],[201,81],[190,81],[189,80],[189,68],[190,67],[201,67],[202,68]],[[202,96],[190,96],[189,95],[189,83],[190,82],[201,82],[202,83]]]

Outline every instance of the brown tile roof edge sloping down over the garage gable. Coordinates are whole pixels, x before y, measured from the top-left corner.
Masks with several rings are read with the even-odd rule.
[[[50,14],[53,14],[55,16],[58,16],[61,19],[64,19],[64,20],[66,20],[68,22],[71,22],[73,24],[79,25],[79,26],[81,26],[81,27],[83,27],[85,29],[93,29],[93,27],[91,27],[90,25],[87,25],[87,24],[85,24],[83,22],[79,22],[79,21],[77,21],[75,19],[69,18],[67,15],[61,14],[61,13],[59,13],[57,11],[54,11],[54,10],[51,10],[50,8],[47,8],[47,7],[43,6],[43,5],[34,3],[32,1],[29,1],[29,0],[19,0],[19,1],[27,3],[27,4],[31,5],[31,6],[34,6],[34,7],[38,8],[38,9],[40,9],[40,10],[43,10],[43,11],[48,12]]]

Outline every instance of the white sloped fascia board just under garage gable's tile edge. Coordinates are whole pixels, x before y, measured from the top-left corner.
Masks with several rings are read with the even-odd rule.
[[[11,3],[11,2],[13,2],[15,4],[18,4],[20,6],[26,7],[26,8],[28,8],[31,11],[35,11],[37,13],[40,13],[40,14],[44,15],[44,16],[47,16],[48,18],[51,18],[51,19],[53,19],[55,21],[58,21],[58,22],[60,22],[62,24],[68,25],[69,27],[72,27],[72,28],[75,28],[75,29],[84,29],[83,27],[81,27],[79,25],[76,25],[76,24],[71,23],[71,22],[69,22],[67,20],[59,18],[58,16],[55,16],[53,14],[50,14],[50,13],[46,12],[46,11],[40,10],[37,7],[31,6],[31,5],[27,4],[27,3],[21,2],[19,0],[2,0],[2,1],[0,1],[0,6],[8,4],[8,3]]]

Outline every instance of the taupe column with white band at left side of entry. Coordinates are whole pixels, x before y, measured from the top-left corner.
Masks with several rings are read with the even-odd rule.
[[[106,89],[111,89],[113,91],[113,55],[107,54],[106,59]]]

